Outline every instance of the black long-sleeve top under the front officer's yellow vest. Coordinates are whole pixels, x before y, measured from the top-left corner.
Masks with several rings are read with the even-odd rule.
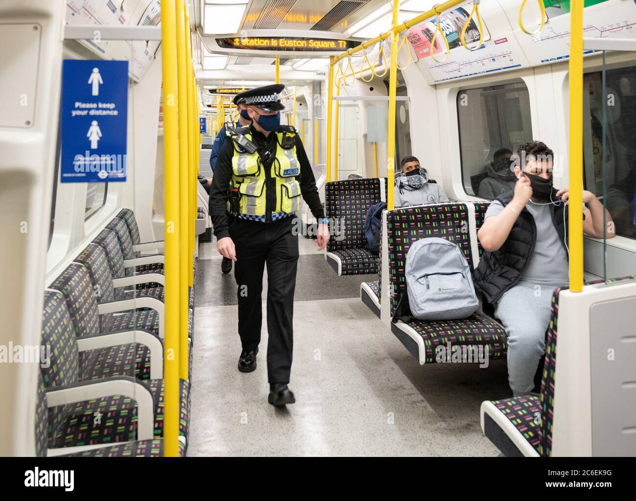
[[[275,132],[270,132],[270,135],[265,137],[263,133],[258,132],[258,130],[256,130],[252,125],[250,125],[249,128],[252,134],[252,142],[270,151],[271,160],[267,164],[263,165],[266,169],[270,169],[277,149]],[[216,161],[214,177],[212,177],[209,212],[212,217],[212,225],[214,226],[214,235],[216,235],[216,238],[230,236],[230,226],[228,226],[226,209],[228,202],[228,186],[230,186],[230,180],[232,179],[232,157],[234,155],[233,145],[234,141],[232,141],[232,139],[230,139],[230,141],[225,141],[223,144],[223,148],[221,148],[218,160]],[[320,220],[324,217],[324,210],[322,209],[320,196],[318,195],[314,171],[312,170],[312,166],[307,158],[307,153],[305,153],[305,148],[303,147],[303,142],[298,134],[296,134],[296,158],[298,158],[298,163],[300,164],[300,175],[296,176],[296,179],[300,177],[300,179],[298,179],[300,182],[300,193],[309,206],[309,209],[312,211],[314,217]],[[268,207],[271,207],[269,205],[271,203],[270,200],[273,200],[276,196],[275,183],[275,178],[266,178],[265,196],[266,200],[268,200]]]

